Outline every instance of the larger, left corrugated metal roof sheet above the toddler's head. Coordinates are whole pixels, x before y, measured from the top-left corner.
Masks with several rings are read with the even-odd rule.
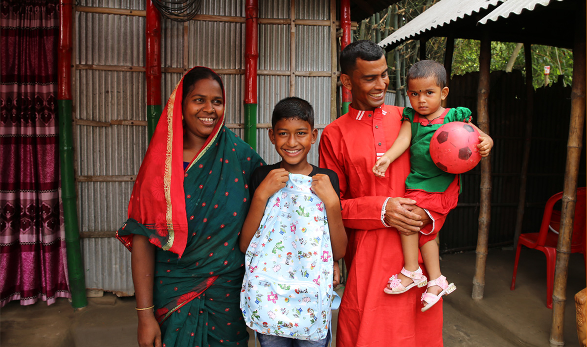
[[[456,22],[474,13],[496,6],[505,0],[442,0],[421,15],[407,22],[399,30],[387,36],[379,45],[385,48],[388,45],[399,43],[413,38],[431,29]]]

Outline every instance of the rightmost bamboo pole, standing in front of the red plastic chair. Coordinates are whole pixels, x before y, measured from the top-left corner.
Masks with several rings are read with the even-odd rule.
[[[576,12],[576,28],[585,28],[585,2]],[[575,215],[577,176],[585,126],[585,31],[575,31],[573,47],[573,83],[571,89],[571,122],[566,145],[565,184],[562,194],[561,230],[556,245],[554,289],[552,292],[551,346],[564,345],[564,317],[566,301],[566,278],[568,276],[569,253]]]

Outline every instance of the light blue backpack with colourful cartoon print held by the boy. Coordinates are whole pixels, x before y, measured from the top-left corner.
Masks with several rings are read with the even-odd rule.
[[[311,186],[311,177],[289,174],[245,254],[241,310],[257,332],[312,341],[328,333],[332,247],[326,208]]]

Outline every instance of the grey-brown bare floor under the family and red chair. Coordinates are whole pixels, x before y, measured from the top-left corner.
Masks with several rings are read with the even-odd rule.
[[[511,249],[490,250],[484,298],[479,301],[471,299],[475,253],[443,256],[443,274],[457,285],[444,300],[445,346],[549,346],[552,310],[546,308],[545,257],[539,251],[522,250],[517,288],[510,291],[514,255]],[[584,264],[582,255],[571,255],[565,346],[579,346],[573,296],[585,288]],[[334,311],[334,332],[337,316]],[[136,325],[134,298],[117,298],[109,293],[89,298],[89,305],[78,311],[66,299],[50,306],[44,302],[30,306],[11,302],[0,311],[0,343],[2,347],[137,346]],[[254,339],[249,346],[255,346]]]

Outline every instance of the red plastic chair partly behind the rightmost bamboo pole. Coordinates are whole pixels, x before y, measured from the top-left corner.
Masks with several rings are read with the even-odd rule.
[[[571,238],[571,253],[582,253],[587,267],[585,255],[585,187],[577,189],[577,202],[575,205],[575,220],[573,221],[573,235]],[[515,252],[514,274],[512,275],[511,290],[515,289],[515,277],[518,272],[519,250],[522,245],[544,252],[546,255],[546,307],[552,308],[552,287],[554,282],[554,268],[556,263],[556,244],[558,242],[558,225],[560,224],[560,211],[553,210],[556,201],[561,200],[561,193],[555,194],[546,201],[544,216],[539,233],[521,234],[518,238],[518,248]]]

